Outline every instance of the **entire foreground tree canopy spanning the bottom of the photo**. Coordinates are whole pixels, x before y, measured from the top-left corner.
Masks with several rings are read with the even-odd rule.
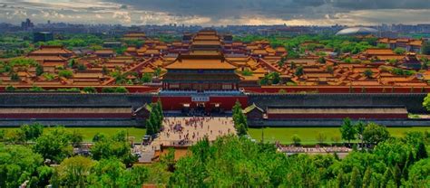
[[[170,150],[160,162],[142,165],[133,164],[136,158],[124,132],[94,136],[92,155],[82,156],[70,150],[79,146],[79,134],[59,127],[32,138],[34,145],[0,144],[0,187],[24,182],[29,187],[430,187],[427,132],[396,138],[387,136],[384,127],[369,124],[356,130],[361,129],[372,147],[343,159],[288,156],[273,144],[225,136],[213,143],[198,142],[178,161]],[[44,162],[47,159],[56,165]]]

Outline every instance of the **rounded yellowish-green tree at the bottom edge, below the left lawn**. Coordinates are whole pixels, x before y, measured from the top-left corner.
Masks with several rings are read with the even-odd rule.
[[[91,158],[80,155],[64,159],[64,161],[55,168],[56,173],[54,175],[56,177],[54,178],[57,179],[60,184],[54,184],[54,187],[87,186],[87,179],[94,164],[95,162]]]

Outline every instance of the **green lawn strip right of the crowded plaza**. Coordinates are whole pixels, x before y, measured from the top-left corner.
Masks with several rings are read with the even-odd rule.
[[[407,131],[430,131],[430,127],[388,127],[388,131],[392,136],[404,136]],[[338,127],[268,127],[264,128],[249,128],[249,135],[256,139],[261,140],[261,134],[264,132],[265,142],[280,141],[282,144],[292,143],[291,137],[298,135],[301,139],[301,143],[316,144],[318,133],[323,133],[327,136],[326,142],[331,142],[331,138],[334,136],[340,137]]]

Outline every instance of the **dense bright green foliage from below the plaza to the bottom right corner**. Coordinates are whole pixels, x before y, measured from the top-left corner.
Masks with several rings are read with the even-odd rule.
[[[428,144],[428,136],[421,138]],[[170,183],[180,187],[426,187],[430,185],[428,158],[410,157],[414,150],[406,139],[389,138],[372,152],[354,151],[342,160],[333,155],[287,157],[272,145],[230,136],[211,146],[207,141],[193,146],[192,155],[175,165]]]

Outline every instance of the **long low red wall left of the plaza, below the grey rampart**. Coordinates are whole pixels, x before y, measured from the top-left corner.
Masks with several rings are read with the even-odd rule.
[[[0,114],[0,118],[132,118],[132,113],[20,113]]]

